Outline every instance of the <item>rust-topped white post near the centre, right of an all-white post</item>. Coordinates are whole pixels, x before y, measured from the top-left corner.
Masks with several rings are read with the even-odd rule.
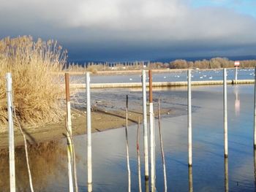
[[[151,161],[151,192],[155,191],[155,137],[154,137],[154,109],[152,93],[152,72],[148,71],[149,77],[149,120],[150,120],[150,161]]]

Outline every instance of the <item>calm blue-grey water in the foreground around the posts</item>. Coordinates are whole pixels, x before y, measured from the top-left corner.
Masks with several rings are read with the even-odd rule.
[[[229,191],[255,191],[253,150],[253,85],[227,85],[228,91],[228,187]],[[125,96],[140,103],[139,90],[92,90],[91,99],[108,99],[113,106],[125,106]],[[100,95],[100,96],[99,96]],[[189,191],[187,166],[187,90],[154,91],[178,115],[162,118],[162,136],[167,169],[167,191]],[[92,122],[94,123],[94,122]],[[129,155],[132,191],[138,191],[136,131],[129,126]],[[156,121],[156,132],[158,126]],[[143,128],[140,126],[140,159],[143,181]],[[192,188],[193,191],[225,191],[223,150],[222,86],[192,87]],[[157,134],[157,191],[163,191],[162,160]],[[75,137],[80,191],[87,191],[86,135]],[[66,140],[31,149],[35,191],[68,191]],[[92,134],[93,191],[127,191],[127,161],[124,128]],[[16,150],[17,191],[29,191],[23,149]],[[9,191],[7,156],[0,158],[0,191]],[[227,183],[226,183],[227,184]],[[144,181],[143,185],[144,186]],[[145,189],[143,188],[143,191]]]

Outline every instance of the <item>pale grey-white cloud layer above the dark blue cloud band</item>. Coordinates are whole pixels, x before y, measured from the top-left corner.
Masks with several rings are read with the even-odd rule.
[[[165,45],[256,43],[255,18],[220,7],[193,8],[191,0],[1,0],[0,3],[0,26],[6,34],[14,30],[80,42],[121,39]],[[0,36],[6,35],[1,31]]]

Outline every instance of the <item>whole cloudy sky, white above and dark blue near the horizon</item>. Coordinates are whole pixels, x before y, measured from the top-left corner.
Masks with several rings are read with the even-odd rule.
[[[256,55],[256,0],[0,3],[0,39],[55,39],[69,61]]]

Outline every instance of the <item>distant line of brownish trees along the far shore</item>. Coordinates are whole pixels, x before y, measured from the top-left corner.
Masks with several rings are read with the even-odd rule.
[[[186,61],[177,59],[169,63],[162,62],[149,62],[149,61],[134,61],[134,62],[115,62],[115,63],[94,63],[88,64],[69,64],[66,70],[70,72],[93,72],[99,71],[120,71],[120,70],[139,70],[139,69],[218,69],[234,67],[235,61],[228,58],[211,58],[210,60]],[[240,68],[255,67],[256,60],[240,61]]]

